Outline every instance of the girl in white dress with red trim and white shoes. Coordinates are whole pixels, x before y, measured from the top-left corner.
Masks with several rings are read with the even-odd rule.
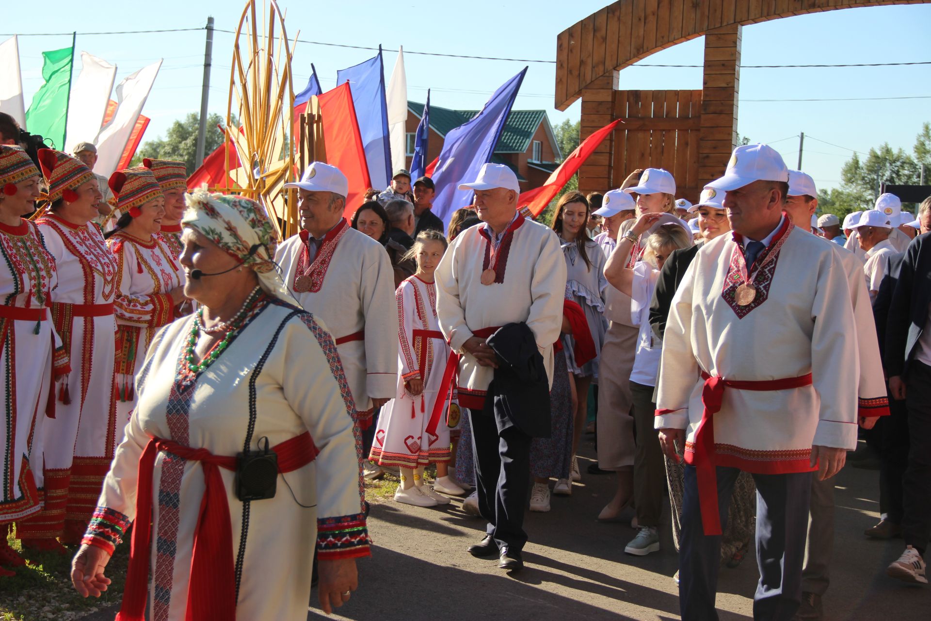
[[[417,272],[401,282],[398,300],[398,393],[385,406],[375,431],[369,459],[379,466],[399,466],[401,484],[395,500],[414,506],[448,505],[450,499],[437,490],[460,495],[463,489],[449,477],[450,430],[442,405],[440,382],[452,355],[439,331],[437,290],[433,273],[446,251],[438,231],[417,236],[405,259],[417,262]],[[424,485],[424,467],[437,465],[435,489]]]

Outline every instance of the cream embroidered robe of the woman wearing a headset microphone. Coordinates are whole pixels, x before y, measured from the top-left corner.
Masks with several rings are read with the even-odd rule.
[[[250,450],[258,450],[263,438],[276,446],[309,431],[318,454],[305,466],[279,474],[275,497],[250,502],[248,516],[236,496],[235,473],[220,468],[234,558],[240,553],[244,523],[248,527],[236,618],[303,621],[315,547],[321,560],[369,553],[361,515],[359,449],[349,414],[352,398],[330,333],[293,306],[267,299],[260,304],[223,354],[193,382],[179,373],[179,360],[194,317],[157,333],[138,378],[139,403],[85,541],[112,550],[137,518],[138,468],[150,439],[171,439],[218,456],[242,452],[254,384]],[[270,345],[261,371],[253,374]],[[199,462],[158,452],[152,487],[151,621],[184,619],[205,489]]]

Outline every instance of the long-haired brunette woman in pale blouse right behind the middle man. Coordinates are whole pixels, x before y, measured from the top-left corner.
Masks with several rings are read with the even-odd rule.
[[[570,192],[560,198],[553,215],[552,229],[560,236],[560,247],[566,261],[566,292],[585,312],[588,331],[595,343],[595,358],[585,364],[579,364],[573,354],[574,343],[571,335],[563,337],[566,364],[573,373],[575,384],[576,409],[573,418],[573,461],[570,479],[580,480],[578,459],[579,437],[588,413],[588,386],[598,380],[599,355],[604,334],[608,331],[608,321],[604,318],[604,290],[608,281],[604,278],[604,263],[607,257],[599,245],[588,237],[588,201],[579,192]],[[567,479],[557,479],[553,493],[570,495],[572,483]]]

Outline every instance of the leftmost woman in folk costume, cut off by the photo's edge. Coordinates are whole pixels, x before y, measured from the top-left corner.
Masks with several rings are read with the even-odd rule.
[[[6,423],[0,425],[0,565],[7,566],[24,564],[7,545],[7,524],[42,508],[42,440],[46,416],[54,416],[49,394],[53,346],[61,344],[47,309],[58,285],[55,259],[35,224],[22,219],[38,197],[33,160],[19,147],[0,145],[0,369],[6,386]],[[69,371],[67,353],[54,353],[56,374]],[[0,566],[0,576],[12,574]]]

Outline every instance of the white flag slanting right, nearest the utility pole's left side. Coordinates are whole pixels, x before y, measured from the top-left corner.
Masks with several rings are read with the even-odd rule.
[[[97,165],[94,166],[94,172],[104,177],[114,173],[161,66],[162,61],[158,61],[148,67],[142,67],[135,74],[123,78],[116,87],[116,113],[94,141],[97,144]]]

